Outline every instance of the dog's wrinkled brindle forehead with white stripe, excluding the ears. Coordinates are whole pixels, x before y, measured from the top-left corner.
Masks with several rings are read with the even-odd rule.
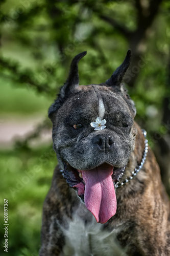
[[[77,122],[89,117],[94,121],[98,116],[103,119],[113,112],[131,113],[128,104],[120,95],[110,91],[106,86],[90,85],[79,86],[79,91],[60,107],[58,117],[60,121],[69,118]]]

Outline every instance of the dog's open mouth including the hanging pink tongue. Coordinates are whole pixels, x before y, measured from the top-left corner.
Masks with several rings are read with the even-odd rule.
[[[62,175],[91,211],[97,222],[106,223],[116,213],[115,187],[125,172],[103,163],[89,170],[78,170],[65,163]]]

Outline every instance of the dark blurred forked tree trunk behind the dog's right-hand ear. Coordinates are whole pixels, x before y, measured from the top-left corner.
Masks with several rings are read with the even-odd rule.
[[[135,31],[128,30],[125,26],[120,25],[115,19],[106,15],[100,15],[102,19],[112,25],[122,33],[129,41],[129,47],[132,50],[132,60],[129,71],[125,77],[125,82],[130,87],[134,87],[140,68],[141,61],[144,60],[143,54],[147,50],[148,31],[158,14],[162,0],[141,1],[135,0],[134,6],[137,11],[137,27]]]

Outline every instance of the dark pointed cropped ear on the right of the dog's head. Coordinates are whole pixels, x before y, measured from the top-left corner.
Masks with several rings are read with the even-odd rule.
[[[130,66],[131,61],[131,50],[128,50],[127,55],[124,59],[124,62],[122,65],[120,65],[112,74],[112,76],[106,81],[106,84],[110,87],[118,87],[120,90],[120,84],[122,83],[122,80],[124,78],[124,75],[127,71],[127,69]]]

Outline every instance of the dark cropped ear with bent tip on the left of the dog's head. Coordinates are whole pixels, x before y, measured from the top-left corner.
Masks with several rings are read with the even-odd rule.
[[[60,106],[63,104],[64,100],[69,96],[69,94],[79,86],[78,63],[79,63],[79,60],[86,55],[86,53],[87,53],[86,51],[79,53],[74,57],[74,59],[72,59],[68,78],[64,83],[64,85],[61,87],[60,93],[58,94],[58,98],[50,106],[50,109],[48,110],[48,117],[51,118],[52,114],[58,108],[60,108]]]

